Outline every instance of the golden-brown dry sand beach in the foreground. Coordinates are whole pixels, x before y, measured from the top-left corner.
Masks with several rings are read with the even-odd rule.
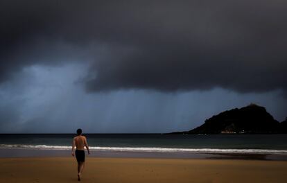
[[[286,161],[87,157],[81,182],[286,182]],[[78,182],[73,157],[0,158],[0,182]]]

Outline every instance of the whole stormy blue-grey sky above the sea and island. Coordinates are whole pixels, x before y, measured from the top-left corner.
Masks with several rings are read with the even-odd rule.
[[[287,116],[287,2],[0,1],[0,132],[173,132]]]

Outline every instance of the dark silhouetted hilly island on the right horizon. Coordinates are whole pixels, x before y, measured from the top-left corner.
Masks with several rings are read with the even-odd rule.
[[[171,134],[278,134],[287,133],[287,118],[279,123],[265,107],[250,104],[221,112],[205,123],[184,132]]]

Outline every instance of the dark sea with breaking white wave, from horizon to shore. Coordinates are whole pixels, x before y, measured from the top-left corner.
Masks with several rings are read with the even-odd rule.
[[[76,134],[0,134],[0,149],[70,150]],[[90,150],[287,155],[287,134],[84,134]]]

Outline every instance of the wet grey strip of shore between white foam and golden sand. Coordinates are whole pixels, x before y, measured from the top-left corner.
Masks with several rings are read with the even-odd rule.
[[[87,153],[86,153],[87,155]],[[0,148],[0,158],[15,157],[70,157],[71,150]],[[265,161],[287,161],[286,154],[259,153],[165,153],[165,152],[130,152],[130,151],[96,151],[87,157],[116,158],[153,158],[153,159],[243,159]]]

